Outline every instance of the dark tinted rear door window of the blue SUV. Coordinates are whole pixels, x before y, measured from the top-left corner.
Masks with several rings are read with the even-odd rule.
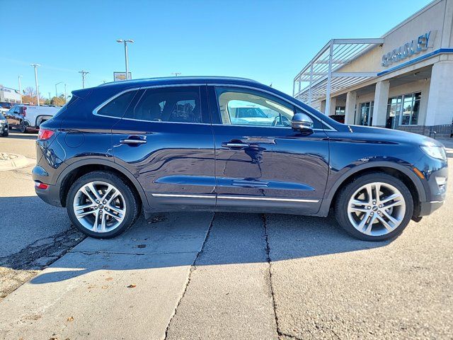
[[[124,118],[150,122],[202,123],[197,86],[147,89]]]

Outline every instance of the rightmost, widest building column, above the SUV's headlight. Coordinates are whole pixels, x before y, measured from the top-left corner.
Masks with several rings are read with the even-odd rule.
[[[436,62],[432,65],[426,126],[452,124],[453,119],[453,62]],[[418,122],[423,124],[423,122]]]

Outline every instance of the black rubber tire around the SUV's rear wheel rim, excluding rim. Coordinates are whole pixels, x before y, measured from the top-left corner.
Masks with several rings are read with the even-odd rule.
[[[122,220],[121,224],[118,227],[109,232],[94,232],[93,230],[86,229],[86,227],[81,225],[81,222],[77,220],[74,213],[73,203],[77,191],[79,191],[82,186],[92,181],[103,181],[115,186],[115,188],[120,191],[125,199],[125,218],[124,220]],[[129,185],[125,183],[125,181],[119,176],[108,171],[93,171],[84,176],[81,176],[72,184],[71,188],[69,188],[66,199],[66,208],[72,224],[75,225],[81,232],[89,237],[94,237],[96,239],[110,239],[112,237],[116,237],[119,234],[122,234],[122,232],[125,232],[134,224],[134,222],[139,217],[141,205],[137,194],[132,191]]]

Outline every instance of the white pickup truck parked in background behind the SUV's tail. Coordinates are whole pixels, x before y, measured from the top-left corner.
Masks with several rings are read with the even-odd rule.
[[[16,105],[6,112],[9,128],[16,128],[25,133],[37,131],[41,123],[52,118],[59,111],[54,106]]]

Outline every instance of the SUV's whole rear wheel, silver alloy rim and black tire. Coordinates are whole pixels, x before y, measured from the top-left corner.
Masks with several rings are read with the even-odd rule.
[[[139,200],[127,183],[107,171],[93,171],[69,189],[71,222],[90,237],[108,239],[125,232],[139,215]]]

